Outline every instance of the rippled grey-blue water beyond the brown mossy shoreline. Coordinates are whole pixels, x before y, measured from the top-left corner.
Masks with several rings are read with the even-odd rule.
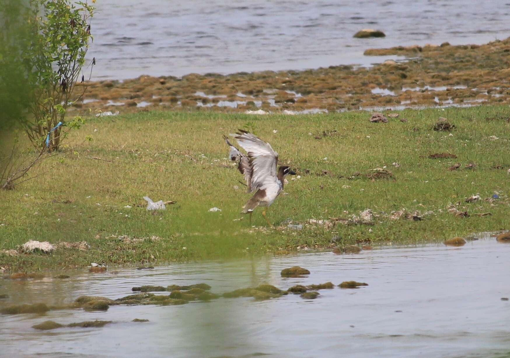
[[[510,3],[468,0],[286,2],[101,0],[92,19],[93,79],[140,74],[368,65],[367,48],[485,43],[508,36]],[[386,38],[354,39],[364,28]],[[390,57],[388,57],[390,58]],[[377,61],[376,61],[377,62]]]

